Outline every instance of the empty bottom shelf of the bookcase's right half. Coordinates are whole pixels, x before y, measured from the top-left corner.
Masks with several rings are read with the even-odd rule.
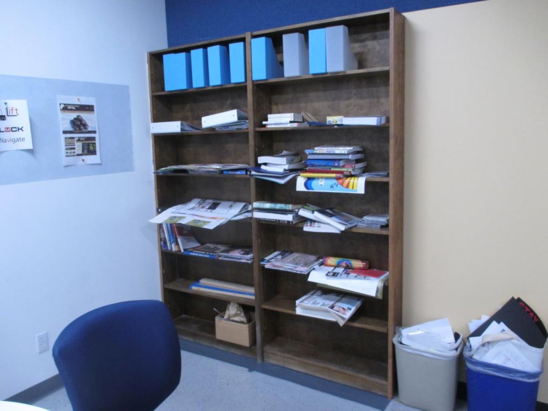
[[[265,361],[383,394],[387,364],[278,337],[265,346]]]

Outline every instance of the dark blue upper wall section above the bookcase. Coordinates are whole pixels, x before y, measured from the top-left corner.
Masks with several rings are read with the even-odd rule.
[[[247,31],[395,7],[399,12],[481,0],[165,0],[169,47]]]

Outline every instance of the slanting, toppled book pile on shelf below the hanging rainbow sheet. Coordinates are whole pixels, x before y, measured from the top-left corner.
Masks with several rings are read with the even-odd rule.
[[[299,215],[307,218],[304,231],[334,232],[350,229],[361,221],[360,218],[344,213],[336,208],[319,208],[306,204],[306,207],[299,209]]]

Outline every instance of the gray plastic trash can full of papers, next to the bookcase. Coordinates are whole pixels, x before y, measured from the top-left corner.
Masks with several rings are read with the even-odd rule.
[[[399,401],[424,411],[453,411],[459,374],[459,349],[447,353],[420,350],[399,342],[398,332],[393,343],[396,347]]]

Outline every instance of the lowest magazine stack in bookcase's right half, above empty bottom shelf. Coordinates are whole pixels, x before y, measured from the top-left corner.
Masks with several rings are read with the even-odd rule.
[[[363,298],[313,290],[295,302],[298,315],[336,321],[342,327],[362,305]]]

